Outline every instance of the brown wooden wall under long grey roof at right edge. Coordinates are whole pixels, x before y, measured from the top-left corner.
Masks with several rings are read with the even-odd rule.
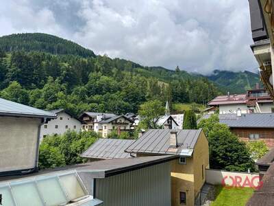
[[[269,148],[274,147],[274,128],[230,128],[230,130],[243,141],[249,141],[250,134],[259,134],[260,140]]]

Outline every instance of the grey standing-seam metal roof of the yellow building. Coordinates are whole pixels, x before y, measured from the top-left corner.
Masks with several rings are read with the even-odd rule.
[[[177,131],[178,148],[171,150],[169,139],[171,131]],[[201,133],[199,130],[171,130],[171,129],[149,129],[139,139],[134,141],[125,151],[136,153],[179,155],[182,150],[194,149],[197,139]]]

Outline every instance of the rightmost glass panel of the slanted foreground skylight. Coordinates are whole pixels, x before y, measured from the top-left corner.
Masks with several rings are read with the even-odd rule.
[[[62,175],[60,176],[60,181],[70,201],[87,195],[75,174]]]

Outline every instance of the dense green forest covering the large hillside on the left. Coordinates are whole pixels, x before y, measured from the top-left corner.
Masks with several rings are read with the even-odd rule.
[[[206,104],[221,93],[214,82],[186,71],[143,67],[95,56],[48,34],[0,38],[0,96],[36,108],[123,114],[149,100]]]

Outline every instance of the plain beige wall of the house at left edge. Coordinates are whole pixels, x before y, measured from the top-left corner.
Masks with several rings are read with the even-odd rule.
[[[38,118],[0,117],[0,172],[36,167],[40,122]]]

